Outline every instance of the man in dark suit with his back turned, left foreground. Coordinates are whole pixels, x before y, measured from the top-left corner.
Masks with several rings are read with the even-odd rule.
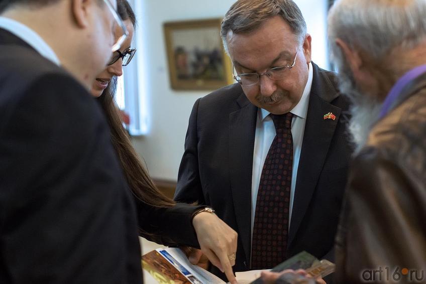
[[[134,203],[88,93],[121,24],[105,1],[0,3],[0,283],[142,282]]]

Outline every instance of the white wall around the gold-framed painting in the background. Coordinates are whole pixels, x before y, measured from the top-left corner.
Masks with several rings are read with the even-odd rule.
[[[136,6],[139,30],[144,49],[138,53],[145,55],[139,60],[143,72],[139,80],[145,82],[149,133],[134,138],[137,152],[145,159],[152,177],[164,180],[177,180],[180,159],[183,154],[189,114],[195,100],[208,91],[174,91],[170,88],[167,70],[167,55],[163,35],[163,23],[177,20],[197,20],[224,17],[234,0],[134,0],[141,1]],[[326,56],[326,0],[295,0],[312,35],[312,60],[327,68]],[[138,11],[137,11],[138,12]],[[144,53],[144,54],[143,54]],[[143,57],[140,57],[142,59]],[[141,70],[140,70],[141,71]]]

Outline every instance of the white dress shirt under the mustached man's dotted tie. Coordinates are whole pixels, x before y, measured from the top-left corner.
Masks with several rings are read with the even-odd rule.
[[[305,130],[307,106],[309,103],[309,94],[312,87],[312,64],[309,63],[309,72],[306,86],[302,97],[297,105],[290,110],[293,113],[291,121],[291,134],[293,136],[293,170],[290,187],[290,208],[288,217],[288,228],[290,228],[291,212],[293,209],[294,190],[296,188],[297,168],[299,166],[300,152],[302,150],[303,133]],[[276,135],[274,122],[269,111],[259,108],[256,121],[256,136],[254,140],[253,152],[253,172],[252,172],[252,216],[251,216],[251,236],[253,239],[254,216],[256,213],[257,192],[259,190],[260,176],[262,175],[263,164],[268,155],[269,148]]]

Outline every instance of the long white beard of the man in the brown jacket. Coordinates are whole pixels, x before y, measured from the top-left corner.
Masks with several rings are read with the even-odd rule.
[[[352,102],[349,109],[351,120],[349,132],[357,154],[367,143],[369,133],[379,118],[382,103],[377,99],[362,94],[356,86],[350,68],[336,60],[339,68],[339,89]]]

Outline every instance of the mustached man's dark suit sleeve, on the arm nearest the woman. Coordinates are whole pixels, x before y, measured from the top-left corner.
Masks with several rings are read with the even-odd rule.
[[[192,107],[185,138],[185,152],[180,162],[174,199],[177,202],[205,204],[198,168],[198,99]]]

